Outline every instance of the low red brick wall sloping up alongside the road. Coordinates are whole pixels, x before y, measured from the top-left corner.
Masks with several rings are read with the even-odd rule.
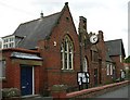
[[[114,83],[114,84],[109,84],[109,85],[105,85],[105,86],[101,86],[101,87],[83,89],[83,90],[80,90],[80,91],[66,93],[66,98],[69,98],[69,99],[74,99],[74,98],[92,98],[92,97],[96,97],[99,95],[103,95],[105,92],[118,89],[120,87],[127,86],[128,84],[130,84],[130,82],[125,80],[125,82]]]

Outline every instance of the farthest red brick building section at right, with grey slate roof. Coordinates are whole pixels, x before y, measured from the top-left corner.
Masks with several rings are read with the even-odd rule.
[[[123,60],[126,57],[123,43],[121,39],[109,40],[105,42],[109,57],[115,62],[116,77],[120,77],[121,70],[125,70]]]

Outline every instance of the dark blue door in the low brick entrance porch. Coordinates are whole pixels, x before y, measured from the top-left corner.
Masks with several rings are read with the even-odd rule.
[[[21,65],[21,90],[22,96],[32,95],[32,67]]]

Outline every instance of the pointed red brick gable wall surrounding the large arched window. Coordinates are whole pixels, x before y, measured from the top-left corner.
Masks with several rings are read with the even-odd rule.
[[[68,35],[74,43],[74,70],[62,71],[61,64],[61,45],[64,36]],[[54,46],[56,42],[56,46]],[[80,71],[79,41],[76,28],[69,9],[67,5],[62,11],[52,35],[44,41],[39,41],[39,51],[43,57],[43,66],[46,68],[46,82],[48,89],[53,85],[77,86],[77,72]]]

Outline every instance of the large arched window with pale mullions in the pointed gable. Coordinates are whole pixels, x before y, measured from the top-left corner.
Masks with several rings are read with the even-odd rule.
[[[65,36],[61,45],[62,70],[73,70],[74,46],[68,36]]]

